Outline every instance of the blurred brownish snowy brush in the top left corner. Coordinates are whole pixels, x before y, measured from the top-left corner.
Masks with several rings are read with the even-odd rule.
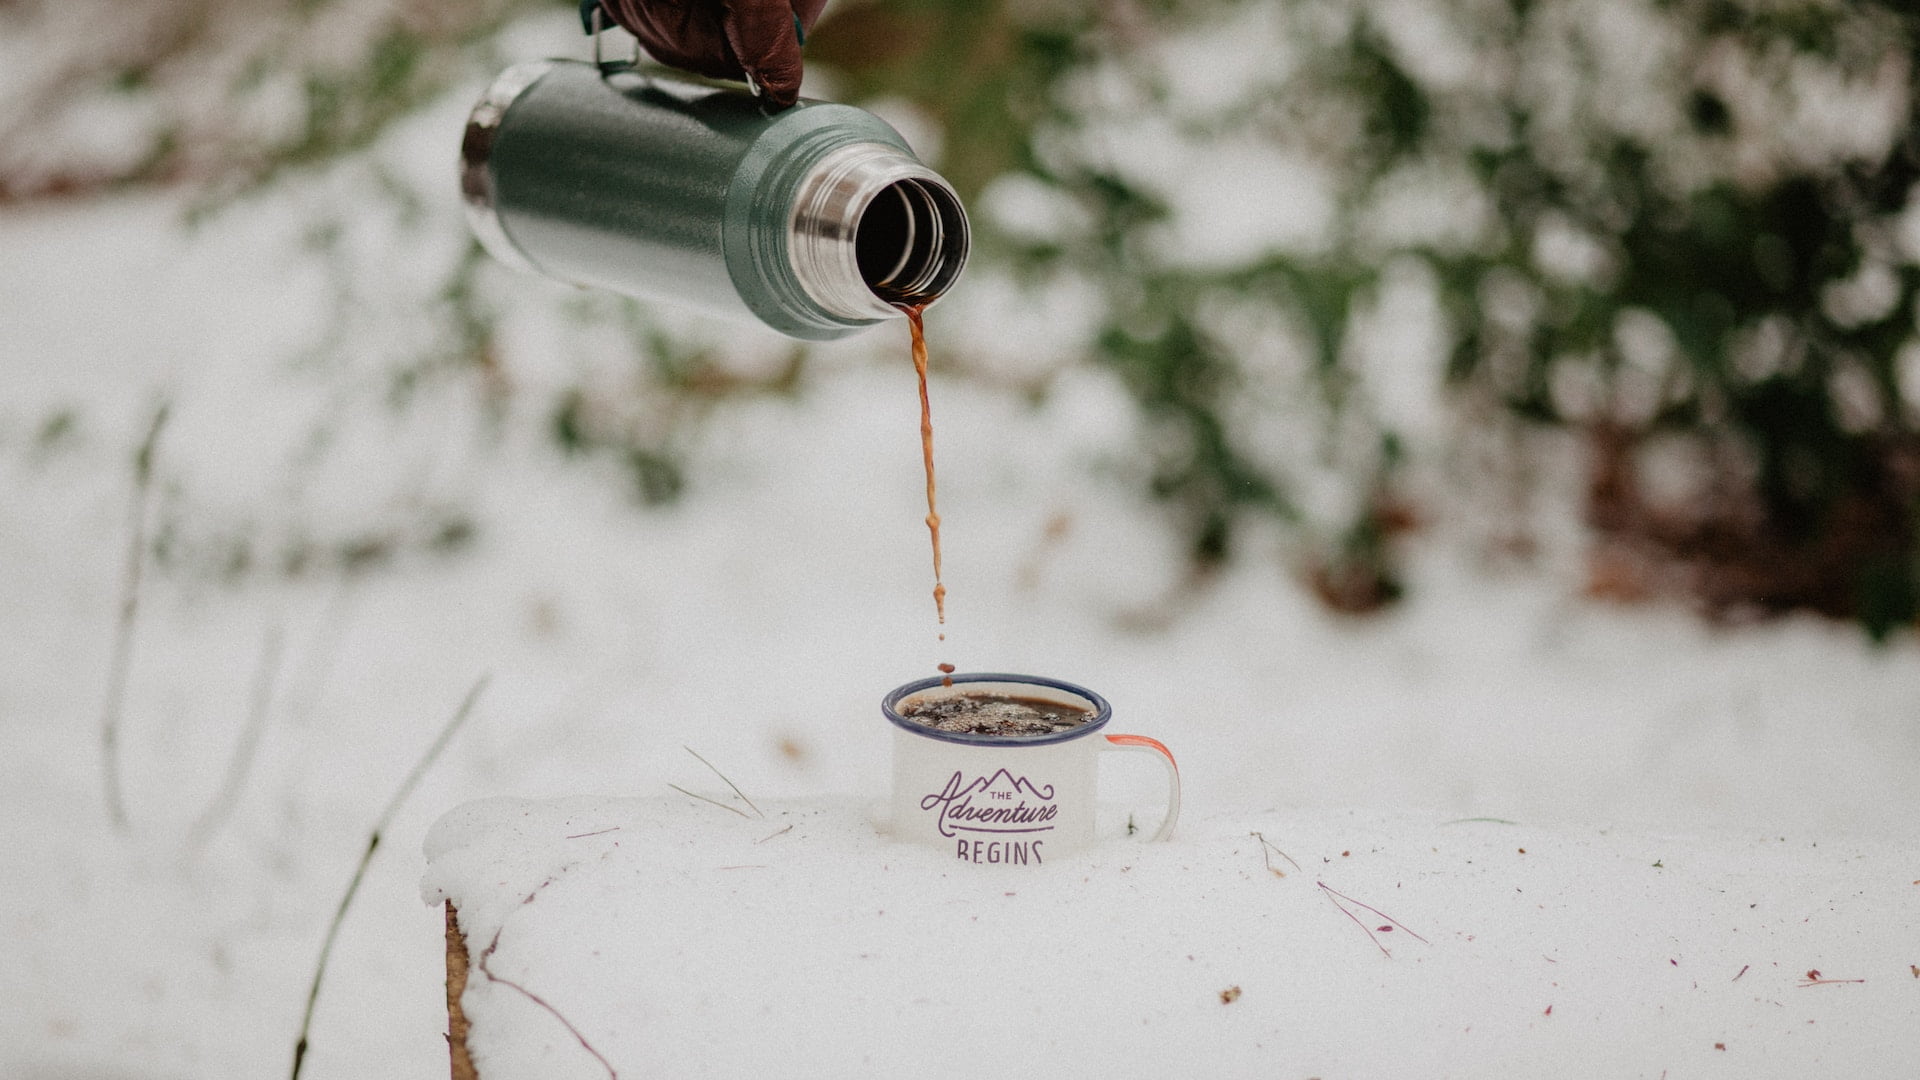
[[[534,0],[15,0],[0,202],[259,186],[369,146],[486,60]],[[21,50],[23,54],[29,50]]]

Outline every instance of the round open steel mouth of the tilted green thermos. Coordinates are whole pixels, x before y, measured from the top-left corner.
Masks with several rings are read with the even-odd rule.
[[[887,304],[925,304],[966,265],[966,215],[945,186],[910,179],[887,184],[854,227],[860,281]]]

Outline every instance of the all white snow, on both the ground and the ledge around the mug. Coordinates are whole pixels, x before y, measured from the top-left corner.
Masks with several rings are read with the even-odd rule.
[[[436,834],[430,872],[470,934],[505,926],[497,972],[591,992],[563,1005],[628,1076],[655,1053],[708,1055],[684,1074],[730,1074],[722,1055],[860,1074],[874,1055],[879,1074],[914,1072],[912,1053],[1014,1065],[1033,1047],[1077,1051],[1087,1074],[1175,1051],[1183,1065],[1154,1074],[1908,1067],[1893,1036],[1920,1019],[1910,634],[1874,650],[1820,621],[1709,628],[1580,601],[1572,517],[1551,498],[1576,471],[1553,461],[1548,557],[1530,569],[1484,561],[1475,500],[1492,496],[1467,484],[1427,507],[1411,600],[1390,615],[1321,611],[1284,536],[1258,527],[1233,567],[1188,582],[1127,469],[1135,421],[1110,375],[1069,369],[1039,404],[950,375],[943,357],[987,340],[968,371],[1002,382],[1066,361],[1064,344],[1021,357],[1010,327],[1031,323],[1029,296],[981,273],[929,315],[943,644],[904,332],[824,348],[795,400],[691,427],[691,490],[670,507],[636,505],[618,469],[551,446],[543,394],[576,377],[618,386],[630,363],[616,338],[568,325],[566,306],[589,302],[570,290],[490,275],[511,313],[499,411],[459,375],[388,402],[382,373],[426,334],[420,292],[459,238],[445,133],[463,110],[388,146],[399,175],[445,183],[428,240],[394,233],[351,167],[192,233],[171,194],[0,215],[0,1076],[280,1074],[369,828],[482,675],[472,721],[346,919],[315,1080],[444,1074],[440,913],[419,901],[419,851],[449,807],[493,796],[597,796],[470,807],[465,836]],[[342,267],[301,248],[340,204],[355,208],[359,286],[344,323],[328,300]],[[1085,298],[1043,300],[1071,340]],[[783,348],[682,329],[741,363]],[[342,356],[311,356],[328,332]],[[159,402],[173,419],[148,521],[175,563],[148,567],[140,594],[123,836],[102,799],[100,717],[131,463]],[[447,519],[474,540],[430,553],[417,538]],[[407,542],[351,575],[271,569],[298,542],[369,532]],[[232,569],[240,542],[255,561]],[[939,661],[1112,700],[1114,730],[1181,757],[1175,840],[1114,840],[1077,876],[1012,886],[879,840],[877,701]],[[263,680],[234,815],[194,842]],[[666,784],[724,794],[684,746],[793,832],[764,840],[766,822],[674,796]],[[1108,778],[1123,803],[1152,774]],[[495,821],[522,811],[518,832]],[[1473,817],[1521,824],[1446,824]],[[564,840],[586,824],[620,830]],[[1252,830],[1306,871],[1267,874]],[[766,869],[720,871],[749,863]],[[476,865],[507,884],[457,876]],[[1315,880],[1430,944],[1390,932],[1380,957]],[[634,934],[645,920],[672,932]],[[588,934],[605,963],[580,951]],[[849,957],[854,942],[872,955]],[[1866,982],[1797,986],[1811,969]],[[914,1005],[993,986],[1027,1001],[1069,988],[1079,1005],[1043,1042],[1010,1038],[1031,1017],[973,1007],[956,1032]],[[1242,995],[1223,1005],[1231,986]],[[856,1009],[874,995],[893,1011]],[[822,1022],[797,1022],[801,997]],[[551,1053],[536,1074],[555,1078],[591,1065],[511,992],[476,984],[470,1005],[503,1070],[488,1080],[511,1080],[513,1055]]]

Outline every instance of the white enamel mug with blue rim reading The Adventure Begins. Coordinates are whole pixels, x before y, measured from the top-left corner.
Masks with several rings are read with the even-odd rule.
[[[993,736],[943,732],[900,715],[912,701],[960,694],[1039,698],[1092,719],[1050,734]],[[962,863],[1039,867],[1092,844],[1096,763],[1110,749],[1150,753],[1167,767],[1167,817],[1152,840],[1171,836],[1181,815],[1173,753],[1140,734],[1106,734],[1114,707],[1083,686],[1035,675],[933,676],[887,694],[881,713],[893,723],[893,836]]]

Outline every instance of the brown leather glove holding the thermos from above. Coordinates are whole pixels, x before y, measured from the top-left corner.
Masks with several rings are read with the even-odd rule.
[[[801,94],[801,44],[828,0],[599,0],[660,63],[747,79],[778,110]]]

